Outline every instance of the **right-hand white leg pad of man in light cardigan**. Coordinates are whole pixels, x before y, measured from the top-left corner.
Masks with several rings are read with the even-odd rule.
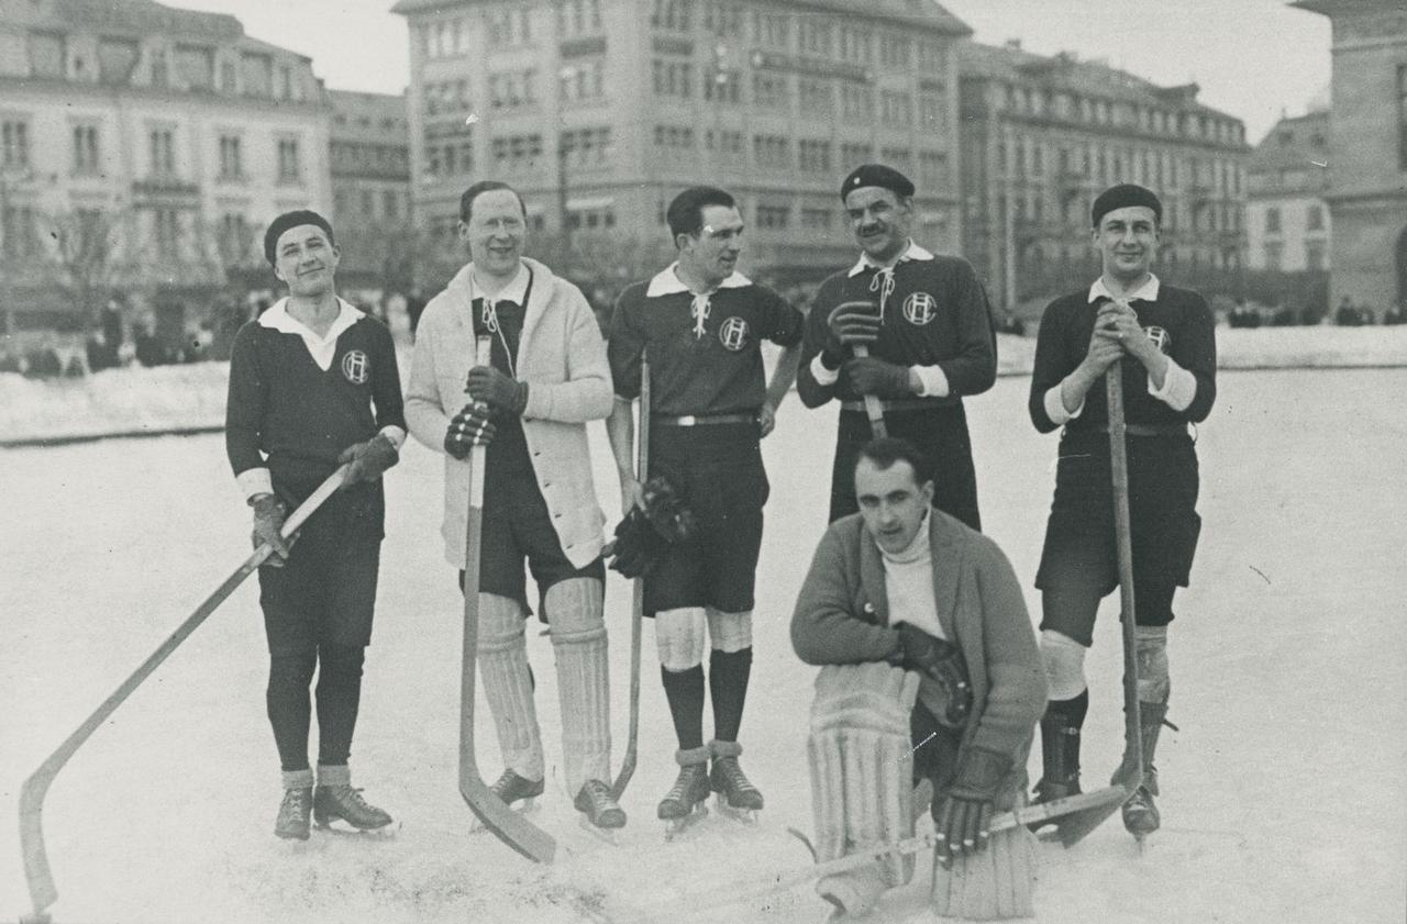
[[[602,592],[595,578],[568,578],[547,588],[561,705],[563,778],[571,796],[588,779],[611,783],[611,678]]]

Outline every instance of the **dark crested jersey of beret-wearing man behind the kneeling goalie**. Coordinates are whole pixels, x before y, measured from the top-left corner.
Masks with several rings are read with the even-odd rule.
[[[830,398],[860,398],[844,376],[834,385],[817,384],[810,363],[826,346],[830,312],[847,301],[878,305],[882,283],[879,270],[865,266],[854,276],[846,270],[820,284],[806,319],[806,346],[798,373],[798,388],[808,406]],[[986,293],[972,266],[954,256],[902,260],[893,269],[879,340],[870,346],[870,354],[898,366],[940,367],[948,380],[948,397],[936,402],[957,404],[962,395],[991,388],[996,381],[996,336]]]

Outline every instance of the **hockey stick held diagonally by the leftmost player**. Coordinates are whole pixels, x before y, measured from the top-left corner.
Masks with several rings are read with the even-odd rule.
[[[308,499],[300,503],[298,509],[284,520],[281,530],[284,539],[297,533],[298,527],[312,516],[312,512],[342,487],[349,467],[350,463],[328,475],[328,480],[318,485],[318,489],[308,495]],[[132,691],[141,686],[160,667],[162,661],[170,657],[172,651],[186,641],[186,637],[196,631],[270,554],[273,554],[273,546],[267,543],[259,546],[234,574],[225,578],[224,584],[215,588],[214,593],[205,598],[204,603],[196,608],[196,612],[186,617],[186,622],[176,627],[176,631],[166,637],[166,641],[156,651],[142,661],[141,667],[132,671],[131,676],[122,681],[111,696],[103,700],[101,706],[93,710],[91,716],[83,720],[83,724],[73,734],[63,740],[63,744],[39,765],[39,769],[24,781],[24,786],[20,788],[20,852],[24,855],[24,878],[30,886],[30,899],[34,901],[34,914],[25,916],[25,921],[32,924],[48,921],[49,914],[45,909],[59,897],[49,872],[49,855],[44,849],[44,796],[49,790],[49,783],[69,762],[73,752],[132,695]]]

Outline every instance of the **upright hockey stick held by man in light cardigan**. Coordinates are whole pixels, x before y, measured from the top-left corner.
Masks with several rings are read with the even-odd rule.
[[[492,339],[478,338],[476,364],[488,366]],[[474,757],[474,676],[478,664],[478,561],[484,527],[484,464],[487,447],[469,450],[469,516],[464,526],[464,648],[459,679],[459,792],[485,828],[528,859],[550,864],[557,842],[536,824],[504,804],[478,774]]]

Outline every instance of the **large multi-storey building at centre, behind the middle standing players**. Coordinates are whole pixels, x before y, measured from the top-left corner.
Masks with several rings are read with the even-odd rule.
[[[933,0],[400,0],[411,37],[418,217],[499,179],[537,228],[667,240],[664,205],[741,200],[753,270],[854,259],[840,180],[884,160],[919,187],[931,248],[957,250],[957,58]]]

